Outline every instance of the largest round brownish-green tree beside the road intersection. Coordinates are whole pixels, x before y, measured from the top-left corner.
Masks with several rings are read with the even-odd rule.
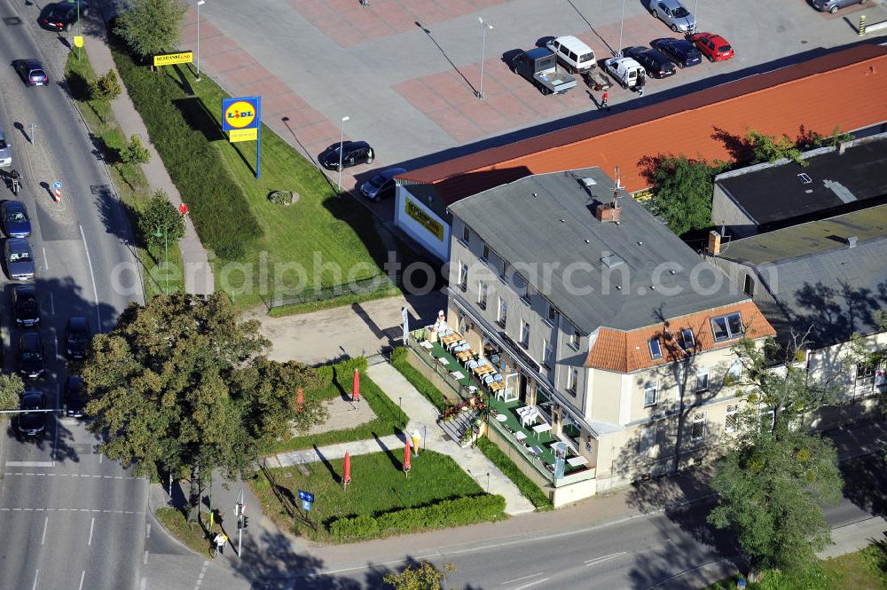
[[[190,473],[192,520],[200,474],[246,475],[265,437],[280,431],[271,421],[286,423],[277,408],[291,391],[240,387],[247,367],[274,371],[258,328],[240,322],[224,294],[160,295],[145,307],[131,304],[110,334],[98,334],[83,368],[85,413],[94,419],[90,430],[105,437],[101,451],[139,475]],[[295,383],[294,372],[283,373]]]

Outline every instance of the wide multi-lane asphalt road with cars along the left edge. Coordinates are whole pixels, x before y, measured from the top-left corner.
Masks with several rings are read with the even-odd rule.
[[[63,68],[67,47],[37,28],[38,7],[0,0],[0,126],[12,144],[13,168],[24,178],[19,199],[33,224],[38,297],[47,371],[27,384],[48,405],[61,406],[66,363],[62,334],[70,316],[84,316],[93,331],[108,330],[130,301],[140,301],[129,224],[110,189],[89,133],[67,97]],[[27,88],[13,59],[40,59],[48,87]],[[35,122],[35,142],[28,123]],[[60,181],[60,204],[50,187]],[[6,189],[3,188],[3,191]],[[12,198],[6,193],[3,199]],[[4,268],[5,270],[5,268]],[[5,368],[15,368],[21,330],[12,326],[3,279]],[[3,422],[0,491],[0,588],[138,587],[143,560],[147,483],[95,452],[98,440],[74,419],[48,418],[37,440],[14,436]]]

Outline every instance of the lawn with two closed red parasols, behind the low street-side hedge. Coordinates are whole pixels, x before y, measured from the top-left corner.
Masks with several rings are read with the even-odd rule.
[[[483,494],[481,487],[454,460],[433,451],[412,457],[410,476],[404,476],[403,448],[351,457],[351,484],[341,484],[342,460],[309,463],[300,468],[264,469],[253,481],[263,514],[279,526],[312,539],[329,540],[326,526],[335,519],[381,515],[440,500]],[[302,511],[298,491],[314,494],[310,514]]]

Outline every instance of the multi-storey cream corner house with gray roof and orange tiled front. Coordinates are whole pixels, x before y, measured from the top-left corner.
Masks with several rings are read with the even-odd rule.
[[[702,460],[734,429],[731,347],[773,327],[602,170],[524,177],[450,211],[447,321],[495,359],[499,421],[531,407],[540,422],[491,421],[491,439],[538,455],[541,429],[586,466],[566,485],[515,461],[555,505]]]

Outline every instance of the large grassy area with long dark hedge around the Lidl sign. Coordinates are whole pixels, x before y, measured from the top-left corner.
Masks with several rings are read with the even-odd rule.
[[[255,142],[232,144],[219,131],[223,90],[206,77],[194,83],[188,67],[137,66],[115,43],[130,97],[200,239],[216,255],[216,289],[240,308],[273,293],[372,277],[389,248],[401,248],[365,208],[336,196],[310,161],[264,126],[256,180]],[[274,190],[299,193],[299,201],[271,204]]]

